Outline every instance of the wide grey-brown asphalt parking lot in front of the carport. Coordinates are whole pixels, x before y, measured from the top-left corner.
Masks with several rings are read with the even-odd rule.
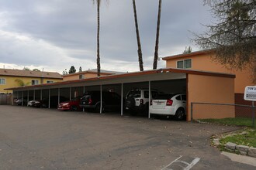
[[[210,136],[236,128],[0,106],[0,169],[255,169],[231,162]],[[168,169],[168,168],[165,168]]]

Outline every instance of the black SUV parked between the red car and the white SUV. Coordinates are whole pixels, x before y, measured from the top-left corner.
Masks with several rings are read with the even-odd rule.
[[[86,92],[81,97],[80,107],[100,112],[101,95],[99,90]],[[121,108],[121,97],[118,93],[102,91],[102,112],[105,110],[117,110]]]

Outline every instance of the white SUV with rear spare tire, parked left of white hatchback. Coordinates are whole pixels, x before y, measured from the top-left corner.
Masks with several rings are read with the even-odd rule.
[[[157,96],[157,90],[151,90],[151,99]],[[137,114],[137,112],[147,113],[149,104],[149,90],[148,89],[135,89],[130,90],[126,94],[125,109],[130,110],[131,114]]]

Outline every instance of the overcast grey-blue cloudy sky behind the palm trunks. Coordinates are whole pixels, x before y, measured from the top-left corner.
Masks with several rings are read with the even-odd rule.
[[[137,0],[144,70],[151,70],[158,0]],[[103,70],[139,71],[132,0],[102,0]],[[54,71],[95,69],[97,8],[92,0],[0,0],[0,68]],[[163,0],[159,56],[182,53],[191,32],[212,22],[202,0]],[[159,61],[157,68],[164,67]]]

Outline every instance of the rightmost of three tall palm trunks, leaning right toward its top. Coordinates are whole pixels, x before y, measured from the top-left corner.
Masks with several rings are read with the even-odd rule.
[[[158,17],[157,17],[157,37],[156,37],[156,45],[155,45],[155,49],[154,49],[153,69],[157,69],[158,44],[159,44],[159,32],[160,32],[160,20],[161,20],[161,5],[162,5],[162,0],[159,0]]]

